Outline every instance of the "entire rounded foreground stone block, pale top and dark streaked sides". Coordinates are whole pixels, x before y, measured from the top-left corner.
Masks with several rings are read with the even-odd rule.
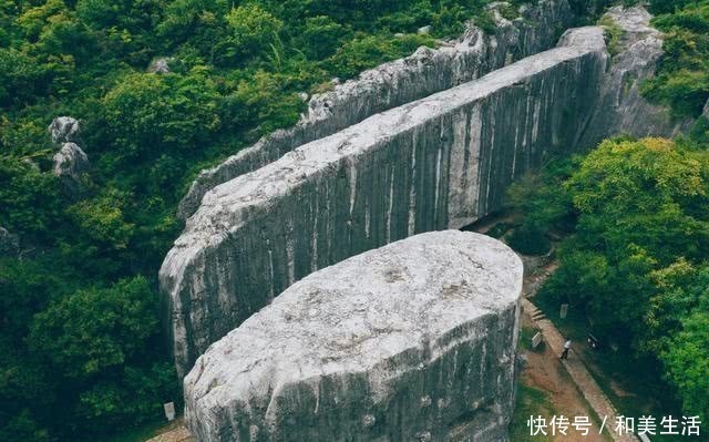
[[[506,441],[522,263],[418,235],[319,270],[185,378],[202,442]]]

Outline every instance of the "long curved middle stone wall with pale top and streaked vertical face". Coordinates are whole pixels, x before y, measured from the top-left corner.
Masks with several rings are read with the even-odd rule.
[[[602,32],[575,31],[575,44],[374,115],[205,195],[160,274],[178,372],[308,274],[500,208],[515,176],[576,145],[605,70]]]

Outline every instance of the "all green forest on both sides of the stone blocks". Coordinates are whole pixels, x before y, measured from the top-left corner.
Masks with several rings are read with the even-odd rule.
[[[197,172],[294,124],[302,92],[435,47],[470,19],[494,31],[489,2],[0,0],[0,227],[22,250],[0,257],[0,440],[96,440],[160,419],[181,393],[156,274]],[[666,54],[644,94],[697,116],[709,1],[651,9]],[[161,56],[169,72],[148,72]],[[60,115],[81,121],[91,163],[74,188],[52,174]],[[607,141],[548,168],[523,207],[530,229],[569,232],[545,290],[573,286],[571,302],[705,417],[708,131],[700,119],[677,143]]]

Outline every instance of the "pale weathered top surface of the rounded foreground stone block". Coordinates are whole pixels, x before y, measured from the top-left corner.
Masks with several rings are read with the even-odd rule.
[[[377,389],[388,378],[421,363],[404,352],[435,360],[484,332],[475,327],[483,317],[514,311],[522,271],[501,241],[458,230],[413,236],[327,267],[209,347],[185,378],[188,413],[274,398],[288,384],[338,373],[371,372],[371,382],[382,382],[371,386],[374,395],[386,395]]]

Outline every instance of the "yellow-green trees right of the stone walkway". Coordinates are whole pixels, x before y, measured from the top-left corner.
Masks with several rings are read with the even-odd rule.
[[[685,412],[709,418],[709,152],[610,140],[537,182],[512,191],[525,224],[571,232],[541,296],[655,363]]]

